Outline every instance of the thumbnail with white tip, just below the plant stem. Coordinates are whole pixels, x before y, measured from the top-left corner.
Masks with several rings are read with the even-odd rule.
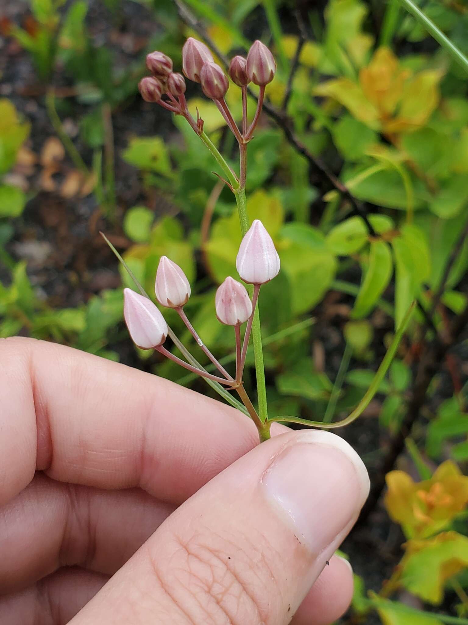
[[[341,437],[324,431],[298,432],[261,482],[273,506],[314,554],[349,529],[369,493],[361,458]]]

